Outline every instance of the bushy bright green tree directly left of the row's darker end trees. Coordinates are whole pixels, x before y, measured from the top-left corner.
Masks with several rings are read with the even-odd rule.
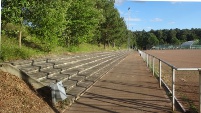
[[[67,20],[68,45],[79,45],[93,40],[103,17],[101,10],[96,8],[96,1],[74,0],[67,10]]]

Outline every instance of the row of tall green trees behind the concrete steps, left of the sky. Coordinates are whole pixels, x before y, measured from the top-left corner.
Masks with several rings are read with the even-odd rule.
[[[115,0],[2,0],[2,34],[51,51],[89,43],[122,46],[128,30]]]

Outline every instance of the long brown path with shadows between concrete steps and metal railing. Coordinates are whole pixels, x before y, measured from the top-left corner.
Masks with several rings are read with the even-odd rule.
[[[172,113],[171,101],[137,52],[98,80],[64,113]]]

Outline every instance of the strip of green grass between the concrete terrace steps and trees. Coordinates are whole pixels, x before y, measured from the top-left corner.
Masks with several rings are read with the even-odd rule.
[[[118,50],[117,48],[107,47],[104,49],[103,45],[100,47],[97,45],[83,43],[79,46],[71,46],[69,48],[57,46],[50,52],[44,52],[38,48],[28,47],[22,43],[22,47],[19,48],[16,38],[8,38],[2,36],[2,45],[0,51],[0,62],[18,60],[18,59],[30,59],[33,57],[43,57],[49,55],[59,55],[66,53],[86,53],[86,52],[98,52],[98,51],[112,51]]]

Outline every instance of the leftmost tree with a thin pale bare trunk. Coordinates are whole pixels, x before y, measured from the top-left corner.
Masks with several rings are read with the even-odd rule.
[[[24,18],[27,7],[30,6],[28,0],[3,0],[2,1],[2,28],[12,27],[18,33],[19,47],[21,48],[21,36],[24,29]],[[12,25],[12,26],[11,26]]]

